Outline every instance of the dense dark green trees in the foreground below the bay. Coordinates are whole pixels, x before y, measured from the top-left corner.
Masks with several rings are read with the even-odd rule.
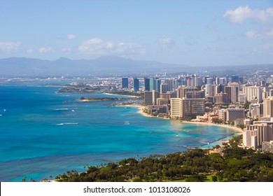
[[[273,181],[273,154],[240,148],[241,136],[223,143],[222,153],[194,149],[184,153],[128,158],[86,172],[66,172],[56,181]]]

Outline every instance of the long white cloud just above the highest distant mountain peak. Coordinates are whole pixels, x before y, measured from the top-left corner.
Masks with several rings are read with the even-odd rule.
[[[115,43],[113,41],[102,41],[100,38],[92,38],[83,41],[78,46],[80,52],[96,55],[139,55],[146,50],[137,43]]]

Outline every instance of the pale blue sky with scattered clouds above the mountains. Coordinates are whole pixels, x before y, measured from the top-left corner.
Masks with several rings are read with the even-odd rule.
[[[0,0],[0,58],[273,63],[273,1]]]

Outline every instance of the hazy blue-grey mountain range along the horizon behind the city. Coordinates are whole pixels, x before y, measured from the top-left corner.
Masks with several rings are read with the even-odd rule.
[[[267,66],[247,65],[248,68]],[[141,61],[116,56],[103,56],[97,59],[71,60],[59,58],[55,61],[31,59],[25,57],[10,57],[0,59],[0,76],[88,76],[109,74],[136,74],[140,73],[197,73],[202,70],[220,71],[223,75],[227,71],[236,73],[236,70],[246,69],[246,66],[186,66],[182,64],[166,64],[155,61]],[[237,73],[238,74],[238,73]]]

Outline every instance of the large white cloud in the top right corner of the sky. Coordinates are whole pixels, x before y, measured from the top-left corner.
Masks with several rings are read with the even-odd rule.
[[[261,22],[266,22],[273,19],[273,7],[260,10],[251,9],[248,6],[239,6],[235,10],[227,10],[223,18],[229,18],[232,23],[241,23],[248,18],[255,18]]]

